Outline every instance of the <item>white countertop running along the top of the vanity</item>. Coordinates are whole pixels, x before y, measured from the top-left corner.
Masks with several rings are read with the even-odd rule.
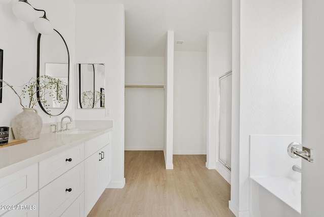
[[[82,142],[111,131],[112,121],[77,121],[84,134],[43,133],[38,139],[9,147],[0,147],[0,178],[68,150]],[[71,129],[72,130],[72,129]]]

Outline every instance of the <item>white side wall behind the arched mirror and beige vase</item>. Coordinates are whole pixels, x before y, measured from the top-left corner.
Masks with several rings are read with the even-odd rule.
[[[14,1],[13,1],[14,2]],[[70,52],[70,61],[74,61],[74,3],[71,0],[64,1],[40,1],[34,0],[30,4],[37,9],[44,9],[47,18],[53,23],[66,41]],[[42,12],[40,12],[42,16]],[[4,50],[4,75],[3,79],[20,92],[19,86],[27,83],[32,77],[36,77],[37,64],[37,36],[38,32],[32,23],[18,20],[12,12],[12,3],[0,5],[0,48]],[[73,65],[70,65],[71,77],[73,79]],[[73,85],[70,90],[72,92]],[[61,116],[50,117],[46,115],[39,105],[35,107],[42,117],[43,123],[60,121],[64,115],[74,117],[72,102],[73,96],[67,109]],[[10,126],[11,120],[20,112],[22,107],[19,99],[13,91],[8,88],[3,90],[3,103],[0,103],[0,125]]]

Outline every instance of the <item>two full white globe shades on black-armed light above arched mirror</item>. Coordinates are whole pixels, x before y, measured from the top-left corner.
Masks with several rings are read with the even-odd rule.
[[[27,2],[27,0],[19,0],[18,2],[14,3],[12,6],[12,11],[21,21],[27,23],[34,22],[35,29],[41,34],[51,34],[54,31],[52,23],[46,18],[46,12],[44,10],[35,9]],[[38,17],[37,11],[44,12],[44,15],[42,17]]]

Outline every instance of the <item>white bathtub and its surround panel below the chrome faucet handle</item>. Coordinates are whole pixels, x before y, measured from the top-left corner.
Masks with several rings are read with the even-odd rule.
[[[251,216],[300,216],[300,158],[291,158],[288,145],[300,135],[251,135]],[[271,205],[269,205],[271,204]]]

